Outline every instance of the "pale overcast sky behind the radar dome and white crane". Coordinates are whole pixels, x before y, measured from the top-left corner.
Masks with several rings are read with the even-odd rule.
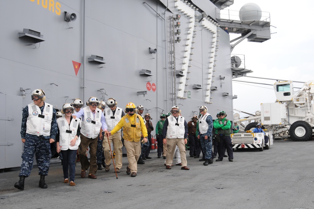
[[[270,13],[271,39],[263,43],[238,44],[232,54],[245,54],[246,68],[254,71],[247,76],[306,82],[314,80],[314,30],[312,29],[312,8],[314,1],[299,3],[273,0],[235,0],[230,10],[240,10],[246,3],[256,3],[262,11]],[[287,2],[287,3],[283,3]],[[230,34],[230,40],[238,37]],[[236,80],[274,84],[275,80],[240,77]],[[282,80],[281,80],[282,81]],[[302,87],[301,83],[294,83]],[[297,89],[295,89],[297,90]],[[236,109],[254,113],[261,103],[275,102],[273,86],[240,83],[233,81],[233,106]],[[234,113],[238,113],[234,111]],[[240,113],[243,117],[246,114]]]

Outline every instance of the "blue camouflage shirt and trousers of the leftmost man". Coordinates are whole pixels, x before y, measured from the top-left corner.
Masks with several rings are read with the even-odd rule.
[[[41,110],[41,114],[44,110],[45,103],[43,106],[39,107]],[[50,136],[36,136],[29,133],[26,133],[26,122],[29,116],[28,106],[23,109],[22,114],[22,126],[21,126],[21,138],[25,139],[24,143],[24,152],[22,153],[22,164],[20,176],[29,177],[30,172],[33,169],[34,163],[34,154],[36,156],[36,161],[38,165],[39,175],[48,175],[49,165],[50,165],[50,157],[51,157],[51,147],[49,139],[56,139],[56,135],[58,133],[57,127],[57,118],[56,118],[56,110],[52,111],[52,121],[51,121],[51,130]]]

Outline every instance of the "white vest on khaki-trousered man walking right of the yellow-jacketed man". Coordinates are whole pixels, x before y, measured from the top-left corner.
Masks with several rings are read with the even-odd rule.
[[[178,122],[174,116],[168,116],[167,138],[184,138],[184,117],[179,116]]]

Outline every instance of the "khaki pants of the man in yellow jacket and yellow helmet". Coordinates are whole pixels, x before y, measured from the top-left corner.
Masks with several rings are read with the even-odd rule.
[[[127,150],[127,161],[129,162],[128,167],[131,169],[131,173],[137,173],[137,161],[139,155],[141,155],[141,142],[124,140],[124,146]]]

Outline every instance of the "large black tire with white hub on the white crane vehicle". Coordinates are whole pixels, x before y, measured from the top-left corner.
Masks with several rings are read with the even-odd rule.
[[[290,136],[294,141],[304,142],[312,137],[312,127],[306,121],[295,121],[289,129]]]

